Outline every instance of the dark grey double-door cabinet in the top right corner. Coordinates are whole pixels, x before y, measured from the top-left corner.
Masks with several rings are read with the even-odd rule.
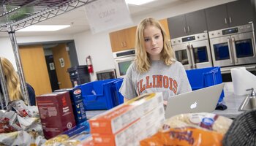
[[[205,9],[208,31],[241,26],[254,21],[254,1],[239,0]]]

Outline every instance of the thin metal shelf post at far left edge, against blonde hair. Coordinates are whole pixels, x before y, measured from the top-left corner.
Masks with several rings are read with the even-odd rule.
[[[1,91],[3,93],[3,96],[4,96],[4,103],[3,103],[3,97],[1,96],[0,94],[0,104],[1,104],[1,110],[4,110],[4,107],[7,106],[7,104],[9,103],[9,92],[7,90],[7,83],[5,81],[5,77],[4,77],[4,72],[3,72],[3,68],[1,66],[1,58],[0,58],[0,84],[1,84]]]

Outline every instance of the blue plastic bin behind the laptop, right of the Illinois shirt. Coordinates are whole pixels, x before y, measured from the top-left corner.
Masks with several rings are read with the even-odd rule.
[[[220,67],[208,67],[203,69],[186,70],[192,91],[200,88],[206,88],[211,85],[222,83],[222,74]],[[224,91],[219,96],[219,102],[224,98]]]

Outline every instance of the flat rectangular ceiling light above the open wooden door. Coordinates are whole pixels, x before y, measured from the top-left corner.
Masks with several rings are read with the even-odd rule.
[[[70,25],[33,25],[22,28],[18,31],[59,31],[69,26]]]

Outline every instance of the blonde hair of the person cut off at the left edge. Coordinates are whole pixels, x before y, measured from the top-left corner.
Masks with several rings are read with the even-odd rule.
[[[12,63],[7,58],[0,57],[0,59],[4,77],[7,82],[7,89],[10,96],[10,101],[22,99],[20,80],[18,78],[17,72],[15,72]]]

